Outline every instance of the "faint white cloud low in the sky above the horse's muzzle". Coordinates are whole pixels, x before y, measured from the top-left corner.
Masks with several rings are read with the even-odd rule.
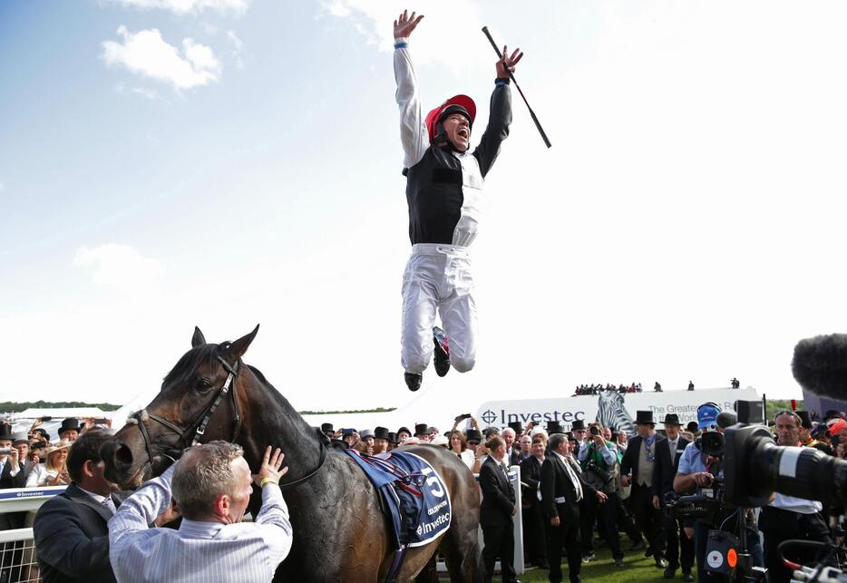
[[[94,283],[131,296],[150,292],[161,280],[159,261],[143,257],[129,245],[106,243],[97,248],[80,248],[73,257],[73,267],[91,266]]]

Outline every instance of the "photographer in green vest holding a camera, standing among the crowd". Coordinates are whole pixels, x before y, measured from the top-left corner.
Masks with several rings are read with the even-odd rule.
[[[615,483],[615,471],[618,470],[620,454],[614,443],[604,439],[603,426],[591,423],[589,432],[591,439],[579,447],[579,463],[582,466],[583,477],[597,491],[606,494],[608,502],[600,504],[593,496],[585,498],[585,507],[580,519],[582,536],[582,555],[590,557],[594,554],[594,522],[600,519],[603,525],[603,535],[615,559],[615,567],[624,566],[624,555],[620,550],[618,537],[618,492]]]

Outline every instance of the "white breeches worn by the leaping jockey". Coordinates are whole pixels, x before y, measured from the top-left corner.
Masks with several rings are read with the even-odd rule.
[[[433,355],[435,309],[441,316],[450,363],[460,373],[476,359],[476,304],[468,249],[423,243],[412,246],[403,276],[401,364],[421,374]]]

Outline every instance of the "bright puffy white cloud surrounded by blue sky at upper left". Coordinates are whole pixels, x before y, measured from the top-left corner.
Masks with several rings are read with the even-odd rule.
[[[129,32],[118,27],[122,41],[103,41],[102,60],[106,66],[124,66],[136,73],[176,89],[190,89],[218,81],[221,64],[215,53],[205,44],[193,39],[182,39],[182,53],[161,37],[159,30]]]

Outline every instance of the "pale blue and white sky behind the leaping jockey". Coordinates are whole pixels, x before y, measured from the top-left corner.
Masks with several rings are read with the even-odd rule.
[[[193,326],[260,322],[246,360],[297,407],[405,403],[403,7],[0,5],[0,399],[123,403]],[[409,7],[425,102],[467,92],[484,126],[488,24],[526,51],[554,144],[514,92],[473,247],[478,365],[424,391],[799,394],[793,344],[845,328],[842,3]]]

